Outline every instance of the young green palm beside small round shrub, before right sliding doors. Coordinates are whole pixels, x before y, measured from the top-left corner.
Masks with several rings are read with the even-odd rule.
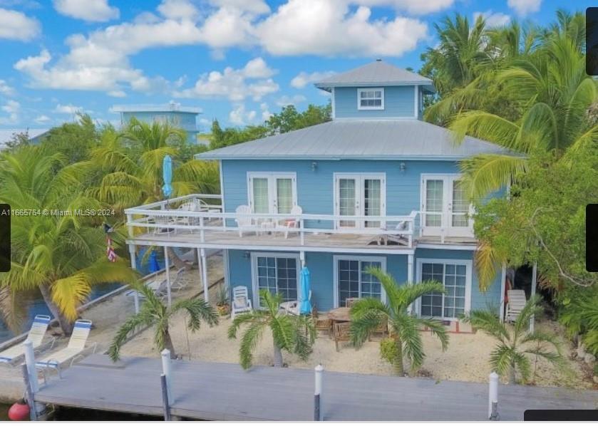
[[[366,341],[370,333],[388,322],[390,338],[396,350],[393,364],[398,375],[405,374],[403,358],[416,370],[423,364],[426,354],[419,328],[428,327],[442,344],[443,350],[448,347],[448,333],[440,321],[433,318],[419,318],[408,311],[408,307],[426,293],[444,292],[444,287],[437,281],[424,281],[419,284],[399,286],[395,279],[381,269],[369,267],[368,274],[375,276],[386,292],[386,303],[376,298],[364,298],[351,307],[351,338],[356,346]]]

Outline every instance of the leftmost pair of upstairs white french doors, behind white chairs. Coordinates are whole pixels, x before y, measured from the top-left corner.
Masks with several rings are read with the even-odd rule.
[[[297,205],[297,178],[294,173],[247,174],[249,207],[260,214],[287,214]]]

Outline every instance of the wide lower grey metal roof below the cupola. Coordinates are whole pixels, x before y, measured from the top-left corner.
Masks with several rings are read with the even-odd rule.
[[[461,160],[505,148],[416,119],[333,120],[281,135],[203,152],[205,160]]]

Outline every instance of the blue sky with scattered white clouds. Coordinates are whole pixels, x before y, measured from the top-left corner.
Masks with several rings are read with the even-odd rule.
[[[0,0],[0,129],[50,128],[113,105],[199,108],[200,130],[323,105],[313,83],[382,58],[421,67],[434,24],[547,24],[585,0]]]

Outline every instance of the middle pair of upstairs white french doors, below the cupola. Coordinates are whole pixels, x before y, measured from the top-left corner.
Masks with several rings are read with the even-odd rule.
[[[386,177],[383,174],[334,175],[334,212],[336,216],[384,216],[386,214]],[[380,221],[341,219],[337,228],[378,228]]]

